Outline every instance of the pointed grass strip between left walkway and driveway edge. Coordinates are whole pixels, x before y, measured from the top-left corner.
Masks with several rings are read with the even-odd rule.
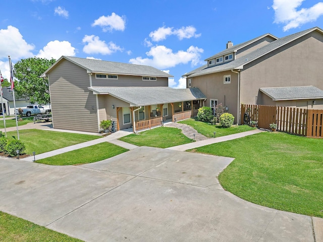
[[[111,143],[103,142],[78,150],[36,160],[35,162],[47,165],[79,165],[104,160],[126,151],[128,151],[128,149]]]

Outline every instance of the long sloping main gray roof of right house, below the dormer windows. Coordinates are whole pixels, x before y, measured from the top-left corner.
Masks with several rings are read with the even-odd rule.
[[[195,76],[201,76],[201,75],[205,75],[205,74],[210,74],[210,73],[217,73],[217,72],[222,72],[222,71],[228,71],[228,70],[232,70],[232,69],[243,69],[243,66],[254,61],[255,59],[270,53],[271,51],[284,46],[285,44],[296,40],[298,38],[300,38],[301,36],[308,34],[314,30],[318,30],[321,33],[323,33],[323,30],[318,28],[318,27],[314,27],[311,29],[307,29],[295,34],[291,34],[288,36],[285,36],[283,38],[277,39],[271,43],[268,43],[240,58],[235,59],[232,62],[226,63],[226,64],[222,64],[219,66],[214,66],[214,67],[209,67],[209,68],[205,68],[205,69],[196,69],[197,71],[194,74],[191,74],[187,77],[195,77]],[[193,71],[189,72],[192,73]],[[185,75],[185,74],[184,74]]]

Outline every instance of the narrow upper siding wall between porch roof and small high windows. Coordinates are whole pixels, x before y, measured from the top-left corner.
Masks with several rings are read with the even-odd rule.
[[[167,77],[157,77],[156,81],[143,81],[142,76],[118,75],[118,79],[96,79],[92,76],[92,86],[104,87],[167,87]]]

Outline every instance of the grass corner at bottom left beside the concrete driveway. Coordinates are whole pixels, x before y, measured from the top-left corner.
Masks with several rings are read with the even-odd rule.
[[[83,240],[69,237],[66,234],[50,230],[22,218],[0,212],[0,241],[79,242]]]

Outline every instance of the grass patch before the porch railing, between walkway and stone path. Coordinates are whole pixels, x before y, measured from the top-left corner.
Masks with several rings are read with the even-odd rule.
[[[168,148],[193,142],[183,135],[182,131],[170,127],[159,127],[152,130],[131,134],[120,140],[137,146],[150,146],[156,148]]]

